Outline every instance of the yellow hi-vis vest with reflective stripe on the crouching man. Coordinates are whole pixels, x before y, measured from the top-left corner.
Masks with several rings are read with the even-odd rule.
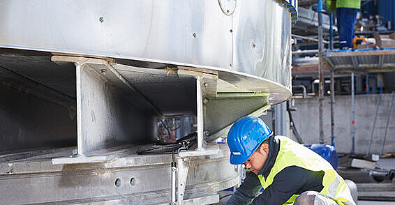
[[[280,151],[278,151],[276,162],[274,162],[267,178],[264,179],[262,174],[258,175],[262,188],[266,189],[271,185],[276,174],[281,172],[285,167],[297,166],[313,172],[325,172],[322,179],[322,186],[324,188],[322,188],[320,194],[330,197],[339,205],[355,205],[350,189],[327,160],[288,137],[276,136],[276,138],[280,139]],[[285,204],[295,202],[298,196],[292,195]]]

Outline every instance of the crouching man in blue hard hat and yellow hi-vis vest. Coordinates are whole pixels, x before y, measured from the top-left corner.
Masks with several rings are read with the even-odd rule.
[[[234,123],[228,145],[230,163],[251,172],[227,204],[355,204],[329,162],[288,137],[274,137],[257,117]]]

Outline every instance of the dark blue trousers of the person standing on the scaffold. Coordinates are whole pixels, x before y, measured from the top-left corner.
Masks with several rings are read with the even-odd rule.
[[[357,8],[336,8],[337,29],[341,48],[352,48],[352,38],[355,37],[354,24],[356,17]]]

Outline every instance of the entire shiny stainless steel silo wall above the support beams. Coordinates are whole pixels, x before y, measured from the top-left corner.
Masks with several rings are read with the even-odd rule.
[[[289,88],[288,8],[231,1],[226,14],[218,2],[0,1],[0,47],[236,70]]]

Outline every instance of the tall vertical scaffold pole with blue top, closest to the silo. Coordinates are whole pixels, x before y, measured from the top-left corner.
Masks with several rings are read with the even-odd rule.
[[[318,0],[318,78],[320,79],[320,84],[318,84],[318,91],[319,91],[319,96],[318,96],[318,101],[320,102],[320,107],[319,107],[319,122],[320,122],[320,144],[324,144],[324,121],[323,121],[323,107],[322,107],[322,101],[324,100],[324,77],[323,77],[323,71],[322,71],[322,64],[324,62],[323,59],[323,36],[322,36],[322,0]]]

